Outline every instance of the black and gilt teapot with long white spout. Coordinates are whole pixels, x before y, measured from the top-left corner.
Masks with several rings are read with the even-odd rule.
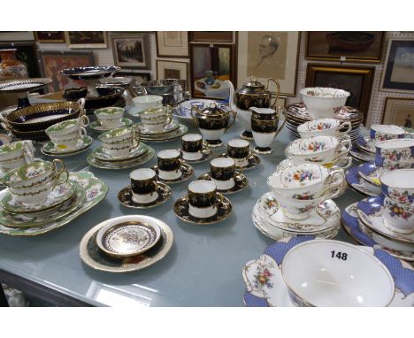
[[[280,95],[279,81],[272,78],[267,79],[266,86],[257,81],[256,76],[250,76],[249,81],[244,83],[242,88],[234,90],[233,83],[226,81],[230,88],[229,104],[230,107],[237,111],[239,119],[242,121],[242,125],[245,131],[241,134],[241,137],[245,140],[253,140],[253,134],[251,134],[251,111],[249,108],[272,108],[276,109],[276,103],[278,102]],[[276,97],[271,104],[272,92],[268,90],[270,82],[275,83],[277,91]]]

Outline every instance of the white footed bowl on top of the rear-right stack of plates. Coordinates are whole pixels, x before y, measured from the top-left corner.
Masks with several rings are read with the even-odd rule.
[[[334,109],[344,106],[350,96],[348,91],[323,87],[303,88],[300,93],[314,119],[334,118]]]

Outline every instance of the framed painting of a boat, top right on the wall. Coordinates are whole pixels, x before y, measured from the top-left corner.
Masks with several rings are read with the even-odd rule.
[[[308,32],[305,58],[380,63],[385,32]]]

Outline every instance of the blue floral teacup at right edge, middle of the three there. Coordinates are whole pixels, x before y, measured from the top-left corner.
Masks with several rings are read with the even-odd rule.
[[[414,140],[391,139],[375,144],[375,165],[387,170],[414,166]]]

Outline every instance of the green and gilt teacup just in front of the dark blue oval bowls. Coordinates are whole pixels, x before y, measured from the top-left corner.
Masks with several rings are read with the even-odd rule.
[[[60,150],[73,150],[80,138],[87,135],[89,118],[82,115],[79,119],[67,119],[48,127],[45,132],[50,141]]]

